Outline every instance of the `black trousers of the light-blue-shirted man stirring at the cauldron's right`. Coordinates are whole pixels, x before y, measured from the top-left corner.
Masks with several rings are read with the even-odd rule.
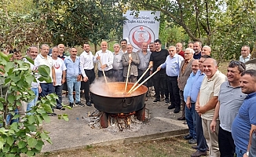
[[[170,103],[175,108],[181,108],[180,89],[177,86],[177,76],[167,76],[167,86],[170,93]]]

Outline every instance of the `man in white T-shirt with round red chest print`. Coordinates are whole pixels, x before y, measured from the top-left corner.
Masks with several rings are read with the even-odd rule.
[[[66,66],[64,64],[64,60],[60,59],[58,57],[60,51],[57,46],[53,47],[52,49],[52,58],[53,58],[53,67],[55,69],[55,78],[56,78],[56,84],[53,86],[53,91],[57,94],[57,105],[56,108],[59,110],[65,110],[65,108],[62,108],[62,89],[63,84],[65,82],[66,78]]]

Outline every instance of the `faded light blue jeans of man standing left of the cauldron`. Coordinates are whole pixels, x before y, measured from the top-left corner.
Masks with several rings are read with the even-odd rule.
[[[80,87],[81,87],[81,81],[77,81],[77,78],[67,78],[67,86],[68,86],[68,101],[69,103],[74,103],[73,98],[73,89],[75,86],[75,102],[80,101]]]

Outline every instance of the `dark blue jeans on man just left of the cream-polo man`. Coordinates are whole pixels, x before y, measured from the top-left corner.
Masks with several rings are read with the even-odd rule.
[[[191,103],[190,109],[188,109],[187,105],[185,105],[185,118],[188,124],[190,137],[196,139],[195,103]]]

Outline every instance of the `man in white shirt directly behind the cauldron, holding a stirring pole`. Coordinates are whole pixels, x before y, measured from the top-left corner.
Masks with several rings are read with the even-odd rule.
[[[108,42],[103,41],[101,42],[101,50],[97,51],[95,53],[95,59],[93,59],[94,62],[97,61],[98,63],[98,77],[103,76],[102,70],[104,70],[105,75],[112,79],[113,76],[113,53],[108,50]]]

